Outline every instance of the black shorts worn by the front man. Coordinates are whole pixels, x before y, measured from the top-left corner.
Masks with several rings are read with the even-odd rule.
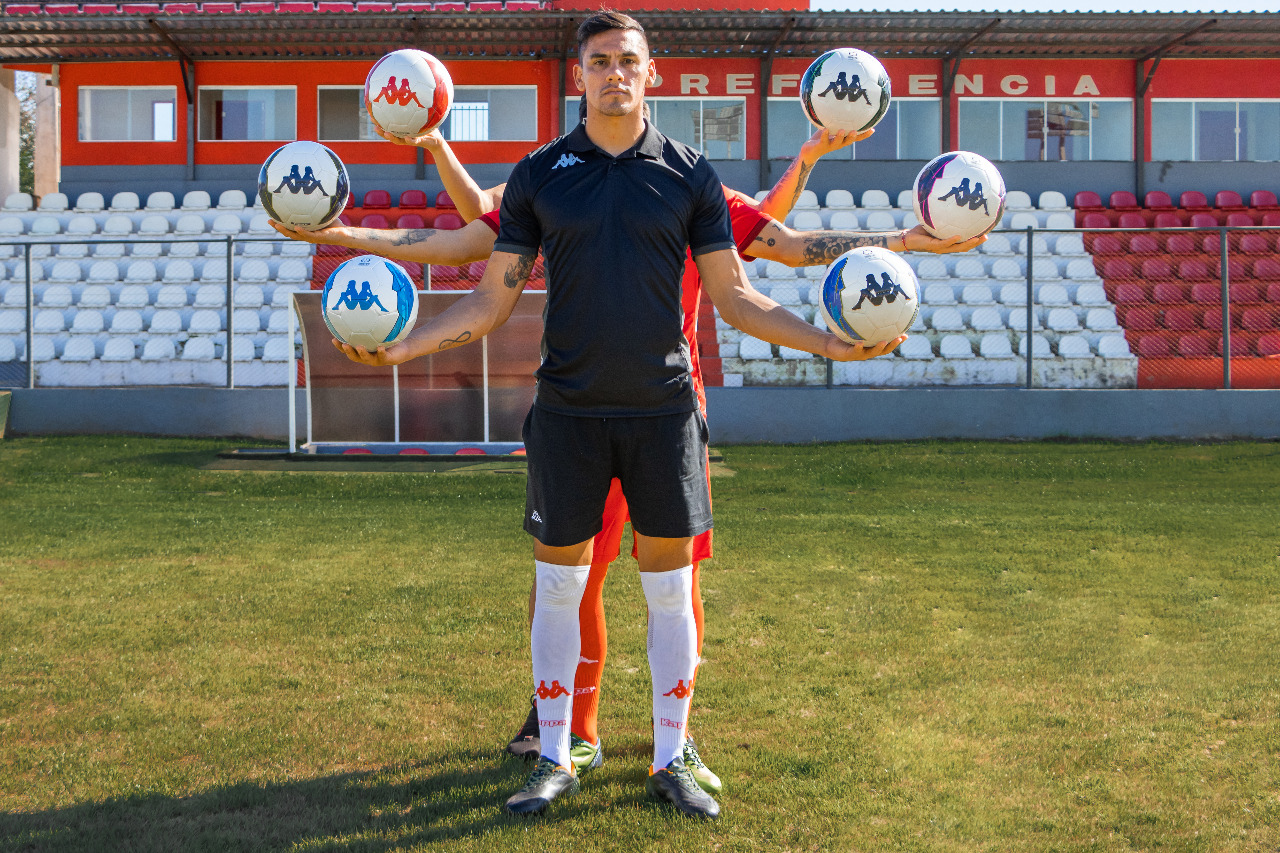
[[[579,418],[534,406],[524,437],[525,530],[545,546],[563,548],[599,533],[613,478],[622,482],[637,533],[677,539],[712,529],[708,433],[699,411]]]

